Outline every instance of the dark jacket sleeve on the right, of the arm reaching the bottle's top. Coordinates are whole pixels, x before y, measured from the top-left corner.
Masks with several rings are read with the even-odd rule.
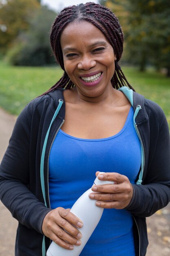
[[[170,133],[166,117],[159,108],[160,111],[158,132],[151,134],[155,144],[153,146],[153,142],[150,142],[146,178],[141,185],[132,184],[133,197],[126,207],[139,217],[151,216],[170,202]],[[156,119],[158,121],[160,118]]]

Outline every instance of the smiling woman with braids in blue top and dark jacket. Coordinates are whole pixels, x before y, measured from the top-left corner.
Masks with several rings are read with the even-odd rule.
[[[44,256],[51,240],[79,246],[83,223],[69,208],[103,171],[115,184],[92,187],[105,209],[80,255],[144,256],[145,217],[170,201],[166,117],[121,71],[123,33],[106,7],[65,8],[51,46],[64,75],[24,108],[0,166],[1,200],[19,221],[15,255]]]

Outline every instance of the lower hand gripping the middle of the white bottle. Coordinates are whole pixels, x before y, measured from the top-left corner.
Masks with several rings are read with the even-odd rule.
[[[79,239],[82,234],[77,228],[82,226],[82,221],[71,213],[70,209],[58,207],[46,214],[42,223],[42,231],[57,245],[65,249],[74,249],[73,245],[81,245]]]

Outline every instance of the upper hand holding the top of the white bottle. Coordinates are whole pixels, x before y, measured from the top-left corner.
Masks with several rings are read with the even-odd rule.
[[[96,173],[96,176],[99,172]],[[99,180],[114,181],[114,184],[93,185],[89,198],[97,200],[96,205],[102,208],[124,209],[130,203],[133,187],[128,177],[119,173],[101,173]]]

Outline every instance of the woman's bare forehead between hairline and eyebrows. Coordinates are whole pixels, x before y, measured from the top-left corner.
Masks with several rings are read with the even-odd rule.
[[[88,45],[96,43],[96,41],[108,40],[95,25],[87,21],[74,21],[69,23],[62,31],[60,43],[61,47],[73,45]]]

